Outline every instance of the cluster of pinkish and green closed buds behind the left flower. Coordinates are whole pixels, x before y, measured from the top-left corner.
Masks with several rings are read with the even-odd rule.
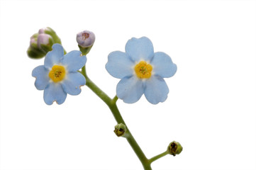
[[[39,59],[45,57],[47,52],[52,50],[52,45],[61,44],[60,38],[52,28],[41,28],[38,33],[30,37],[30,46],[28,47],[28,57]]]

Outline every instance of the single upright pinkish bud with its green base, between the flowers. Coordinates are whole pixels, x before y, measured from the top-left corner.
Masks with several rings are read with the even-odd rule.
[[[87,55],[91,50],[92,45],[94,45],[95,35],[89,30],[84,30],[77,33],[77,43],[79,49],[82,51],[83,55]]]

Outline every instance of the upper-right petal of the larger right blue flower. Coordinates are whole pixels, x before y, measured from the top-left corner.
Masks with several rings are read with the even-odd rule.
[[[165,52],[155,52],[152,61],[153,71],[162,78],[172,77],[177,72],[177,65]]]

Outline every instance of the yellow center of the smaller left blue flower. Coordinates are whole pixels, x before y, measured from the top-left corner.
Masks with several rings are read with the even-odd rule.
[[[49,72],[49,77],[53,82],[57,83],[65,78],[66,71],[63,66],[54,65],[52,70]]]

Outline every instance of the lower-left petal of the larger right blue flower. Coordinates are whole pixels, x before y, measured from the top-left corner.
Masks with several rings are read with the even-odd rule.
[[[124,77],[116,86],[116,95],[126,103],[135,103],[143,93],[143,81],[135,76]]]

